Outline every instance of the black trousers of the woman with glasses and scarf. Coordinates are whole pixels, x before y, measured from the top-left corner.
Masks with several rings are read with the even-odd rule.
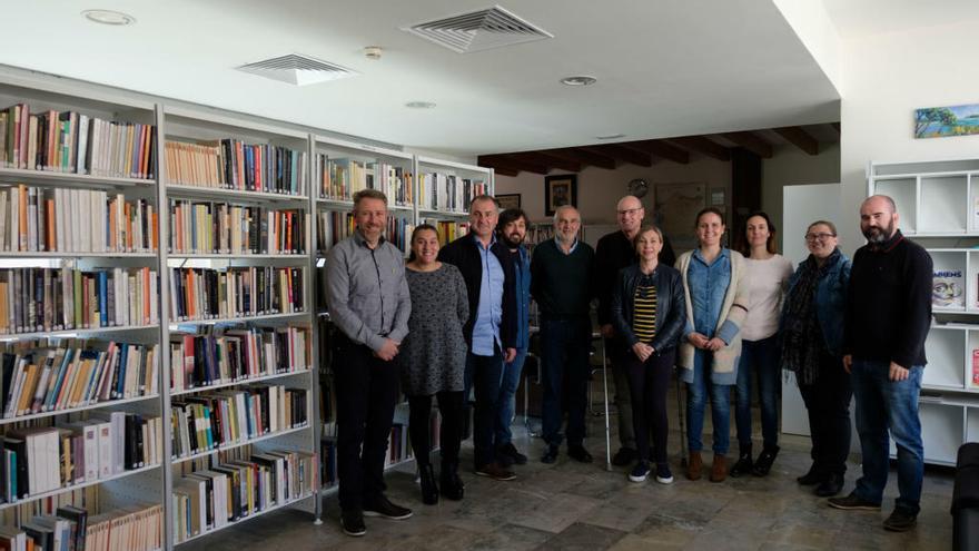
[[[839,357],[821,354],[819,375],[800,384],[812,433],[812,471],[823,476],[847,472],[850,454],[850,399],[853,386]]]

